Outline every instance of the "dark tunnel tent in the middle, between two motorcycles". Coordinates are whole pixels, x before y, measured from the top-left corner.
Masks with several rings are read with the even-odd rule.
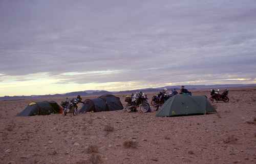
[[[80,113],[83,112],[100,112],[100,111],[112,111],[122,110],[123,105],[120,99],[114,95],[106,94],[96,99],[87,99],[84,101],[84,105],[80,109]]]

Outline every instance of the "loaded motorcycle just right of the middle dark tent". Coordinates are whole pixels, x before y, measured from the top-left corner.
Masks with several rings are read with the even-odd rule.
[[[140,107],[140,110],[142,112],[150,112],[150,104],[147,101],[147,95],[144,93],[135,93],[131,97],[126,96],[125,102],[127,102],[126,110],[131,111],[137,111],[137,107]]]

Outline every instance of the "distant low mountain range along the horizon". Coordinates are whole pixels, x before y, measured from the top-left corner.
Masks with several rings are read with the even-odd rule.
[[[256,84],[220,84],[220,85],[186,85],[185,87],[189,90],[195,89],[210,89],[210,88],[240,88],[240,87],[255,87]],[[138,91],[143,92],[158,92],[163,88],[167,89],[179,89],[181,85],[175,86],[164,86],[158,88],[142,88],[136,90],[123,90],[123,91],[106,91],[106,90],[85,90],[85,91],[74,91],[64,94],[54,94],[54,95],[31,95],[31,96],[4,96],[0,97],[0,100],[18,100],[18,99],[37,99],[37,98],[57,98],[57,97],[76,97],[80,96],[100,96],[104,94],[116,94],[116,95],[126,95]]]

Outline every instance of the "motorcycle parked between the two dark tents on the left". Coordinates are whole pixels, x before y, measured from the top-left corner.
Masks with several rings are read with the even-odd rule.
[[[61,102],[60,105],[64,109],[63,114],[67,115],[67,113],[70,112],[73,115],[77,115],[78,114],[77,104],[78,104],[78,100],[75,98],[72,99],[71,101],[67,98],[65,102]]]

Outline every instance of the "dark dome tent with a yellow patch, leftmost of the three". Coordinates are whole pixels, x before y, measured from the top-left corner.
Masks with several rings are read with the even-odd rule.
[[[55,101],[32,102],[17,116],[48,115],[61,111],[61,107]]]

